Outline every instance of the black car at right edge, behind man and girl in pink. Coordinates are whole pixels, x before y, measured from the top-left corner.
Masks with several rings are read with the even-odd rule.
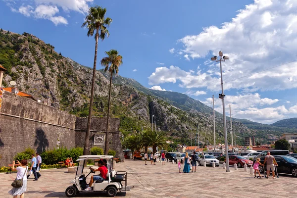
[[[287,155],[274,155],[274,158],[278,164],[278,173],[288,173],[297,177],[297,159]],[[260,157],[260,162],[264,163],[265,156]],[[263,166],[259,166],[259,171],[263,173]],[[265,166],[265,171],[266,166]]]

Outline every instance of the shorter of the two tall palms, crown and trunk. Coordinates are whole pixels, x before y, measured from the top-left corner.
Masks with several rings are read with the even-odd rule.
[[[107,109],[107,121],[106,121],[106,138],[105,138],[105,148],[104,154],[108,153],[108,130],[109,130],[109,113],[110,113],[110,98],[111,98],[111,84],[112,84],[112,76],[119,72],[119,66],[123,64],[123,57],[119,55],[119,52],[115,49],[111,49],[110,51],[105,51],[107,57],[102,58],[101,65],[104,68],[104,72],[109,71],[110,80],[109,80],[109,93],[108,93],[108,109]]]

